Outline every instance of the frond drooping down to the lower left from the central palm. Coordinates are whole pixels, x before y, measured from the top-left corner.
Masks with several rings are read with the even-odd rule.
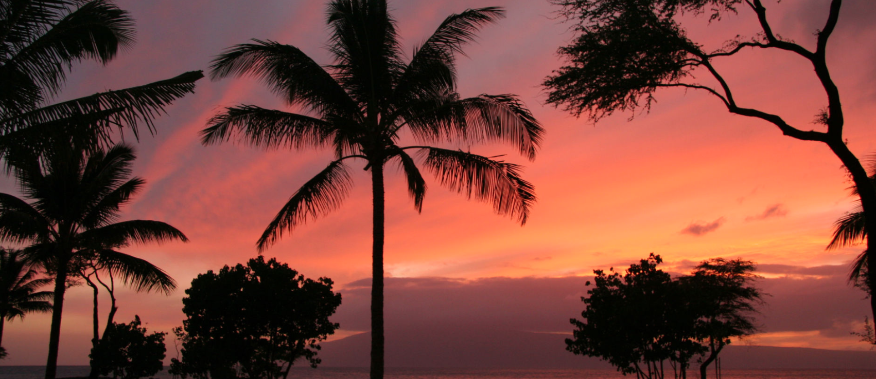
[[[295,191],[271,224],[268,224],[262,237],[258,238],[258,251],[264,252],[285,231],[293,231],[298,225],[307,222],[308,218],[316,218],[336,210],[343,198],[350,193],[351,187],[350,173],[342,160],[329,163],[328,167]]]

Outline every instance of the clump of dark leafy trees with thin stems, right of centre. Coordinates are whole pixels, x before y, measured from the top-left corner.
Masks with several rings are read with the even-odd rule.
[[[753,314],[764,294],[752,285],[758,278],[752,262],[710,259],[677,279],[657,269],[661,263],[652,253],[623,275],[613,267],[595,270],[595,286],[581,298],[583,320],[570,320],[576,329],[567,349],[648,379],[664,377],[666,361],[676,377],[687,377],[691,360],[703,355],[705,379],[731,338],[756,331]]]

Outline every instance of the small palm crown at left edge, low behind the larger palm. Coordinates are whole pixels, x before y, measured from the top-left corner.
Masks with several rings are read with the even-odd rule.
[[[36,292],[52,279],[35,279],[37,274],[20,250],[0,248],[0,344],[5,320],[24,320],[25,314],[52,311],[52,292]]]

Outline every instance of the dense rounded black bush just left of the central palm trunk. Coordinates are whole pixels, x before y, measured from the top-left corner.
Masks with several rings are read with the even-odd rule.
[[[182,360],[170,372],[183,378],[276,378],[305,358],[316,367],[318,343],[334,334],[329,316],[341,305],[328,278],[305,279],[275,258],[252,258],[192,280],[182,311]],[[278,366],[277,362],[281,362]]]

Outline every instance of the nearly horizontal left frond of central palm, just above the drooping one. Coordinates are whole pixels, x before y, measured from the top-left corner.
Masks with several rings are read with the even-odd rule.
[[[225,108],[201,130],[201,143],[212,145],[232,139],[261,148],[304,148],[326,144],[332,125],[303,114],[255,106]]]

